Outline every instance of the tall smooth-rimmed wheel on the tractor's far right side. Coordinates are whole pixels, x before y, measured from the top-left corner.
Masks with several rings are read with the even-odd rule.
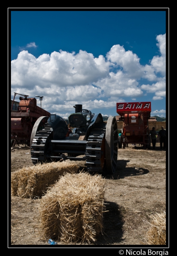
[[[115,117],[109,117],[105,134],[105,163],[107,173],[116,171],[118,158],[118,127]]]

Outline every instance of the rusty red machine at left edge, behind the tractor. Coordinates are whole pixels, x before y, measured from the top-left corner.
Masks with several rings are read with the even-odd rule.
[[[14,99],[17,94],[19,93],[14,93]],[[12,110],[14,100],[11,106],[11,147],[19,141],[30,145],[31,132],[36,120],[41,116],[50,116],[49,112],[36,105],[35,98],[27,98],[28,95],[24,94],[19,95],[24,98],[19,98],[18,110]]]

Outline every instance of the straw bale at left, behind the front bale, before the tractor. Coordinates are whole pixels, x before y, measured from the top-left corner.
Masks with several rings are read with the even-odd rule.
[[[52,162],[23,167],[11,174],[13,196],[42,196],[47,188],[53,185],[66,173],[77,173],[78,165],[68,162]]]

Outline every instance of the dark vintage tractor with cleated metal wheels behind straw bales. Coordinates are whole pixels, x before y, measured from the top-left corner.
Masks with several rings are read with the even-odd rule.
[[[115,117],[104,123],[101,114],[74,106],[69,124],[57,116],[39,117],[31,134],[31,159],[41,162],[85,161],[91,173],[115,173],[118,157],[118,128]],[[41,123],[45,121],[41,129]],[[72,128],[72,129],[70,129]]]

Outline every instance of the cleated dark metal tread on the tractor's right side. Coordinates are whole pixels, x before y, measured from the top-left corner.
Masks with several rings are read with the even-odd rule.
[[[103,154],[105,150],[104,139],[105,139],[106,124],[95,124],[92,129],[88,142],[86,145],[86,167],[89,172],[102,173],[104,159]],[[102,158],[101,158],[102,157]]]

